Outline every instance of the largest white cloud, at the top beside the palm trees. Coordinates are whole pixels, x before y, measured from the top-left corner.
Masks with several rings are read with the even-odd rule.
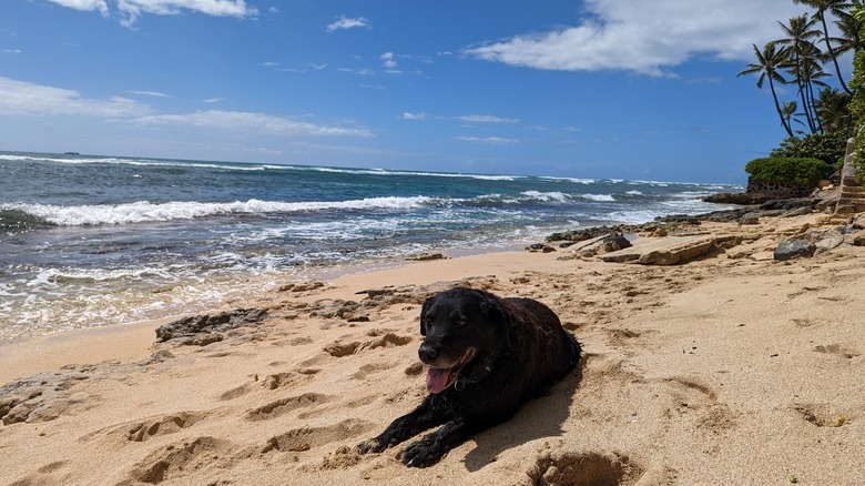
[[[466,52],[535,69],[661,77],[700,55],[751,60],[752,43],[782,37],[776,20],[807,11],[790,0],[587,0],[584,9],[576,27],[517,36]]]

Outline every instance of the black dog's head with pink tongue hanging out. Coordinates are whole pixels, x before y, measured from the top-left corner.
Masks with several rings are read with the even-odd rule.
[[[489,374],[492,361],[510,345],[510,314],[501,301],[484,291],[454,288],[429,297],[420,310],[418,350],[429,366],[427,389],[440,393],[465,378]]]

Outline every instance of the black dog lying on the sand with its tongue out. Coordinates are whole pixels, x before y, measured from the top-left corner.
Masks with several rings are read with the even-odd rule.
[[[379,436],[359,444],[362,454],[380,453],[441,425],[408,445],[401,457],[407,466],[436,464],[561,379],[581,353],[546,305],[470,288],[428,298],[420,311],[420,334],[425,338],[418,355],[429,366],[430,395]]]

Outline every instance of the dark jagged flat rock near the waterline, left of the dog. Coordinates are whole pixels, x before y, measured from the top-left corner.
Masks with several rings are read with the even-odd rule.
[[[243,326],[254,326],[267,317],[263,308],[238,308],[214,315],[194,315],[156,328],[156,341],[164,343],[181,338],[180,344],[205,346],[223,340],[223,334]]]

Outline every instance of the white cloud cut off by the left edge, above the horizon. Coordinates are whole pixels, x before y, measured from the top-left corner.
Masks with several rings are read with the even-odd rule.
[[[82,98],[73,90],[0,78],[0,115],[130,117],[150,113],[150,108],[135,100],[112,97],[106,100]]]

